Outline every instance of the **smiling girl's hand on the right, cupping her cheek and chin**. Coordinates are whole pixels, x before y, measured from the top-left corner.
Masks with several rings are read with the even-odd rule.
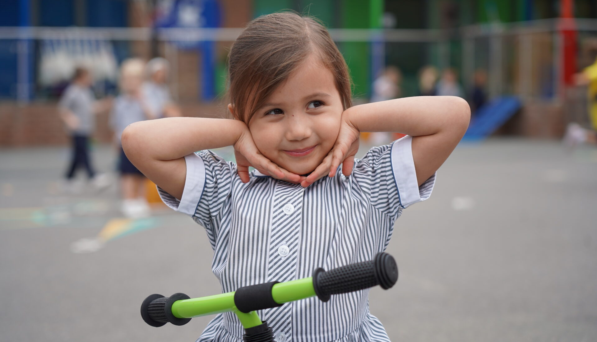
[[[330,153],[319,164],[315,171],[311,172],[305,180],[301,182],[304,187],[314,183],[319,178],[328,175],[334,177],[340,163],[342,164],[342,174],[350,175],[355,165],[355,155],[359,150],[359,135],[361,132],[350,123],[344,116],[340,124],[340,132],[336,138],[336,143]]]

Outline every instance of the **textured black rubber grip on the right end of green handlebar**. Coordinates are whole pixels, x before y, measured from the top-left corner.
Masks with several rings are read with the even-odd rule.
[[[371,261],[349,264],[325,272],[321,267],[313,271],[313,288],[321,301],[333,294],[359,291],[380,285],[389,289],[398,280],[398,266],[392,255],[378,253]]]

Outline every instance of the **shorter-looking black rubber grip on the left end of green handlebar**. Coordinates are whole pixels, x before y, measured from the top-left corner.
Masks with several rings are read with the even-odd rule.
[[[170,297],[164,297],[161,294],[152,294],[145,298],[141,304],[141,317],[145,323],[151,326],[162,326],[165,323],[174,325],[184,325],[190,321],[190,318],[177,318],[172,314],[172,304],[181,299],[189,299],[184,293],[175,293]]]

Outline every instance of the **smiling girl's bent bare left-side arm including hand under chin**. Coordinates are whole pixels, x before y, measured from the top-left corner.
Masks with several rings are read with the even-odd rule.
[[[299,180],[298,175],[290,174],[261,155],[247,125],[238,120],[164,118],[139,121],[125,128],[121,141],[122,149],[133,165],[177,199],[182,197],[186,178],[184,156],[224,146],[233,145],[244,156],[246,162],[239,162],[238,170],[245,183],[249,180],[249,166],[264,174]]]

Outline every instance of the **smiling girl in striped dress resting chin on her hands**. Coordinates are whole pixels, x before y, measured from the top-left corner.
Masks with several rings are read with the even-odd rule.
[[[165,118],[122,134],[164,202],[207,230],[223,292],[373,258],[402,209],[429,197],[469,122],[457,97],[351,107],[346,63],[327,30],[294,13],[251,21],[229,73],[233,119]],[[361,131],[409,136],[355,160]],[[230,145],[236,164],[208,150]],[[277,341],[389,341],[367,290],[259,314]],[[222,313],[198,341],[241,338],[238,319]]]

